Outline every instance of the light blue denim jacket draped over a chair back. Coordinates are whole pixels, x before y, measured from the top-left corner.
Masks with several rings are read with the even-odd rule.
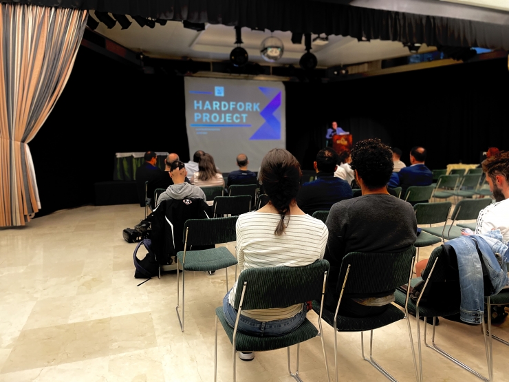
[[[484,265],[488,268],[493,290],[484,290],[482,266],[475,243],[479,247]],[[508,246],[503,244],[499,230],[483,235],[462,236],[446,244],[456,252],[459,271],[459,286],[462,303],[459,316],[464,322],[481,323],[484,317],[484,296],[496,295],[509,285],[507,264]],[[499,259],[497,259],[499,257]]]

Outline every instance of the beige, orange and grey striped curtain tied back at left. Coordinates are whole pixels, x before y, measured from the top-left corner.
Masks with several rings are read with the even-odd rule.
[[[0,22],[0,226],[23,226],[41,208],[27,144],[67,83],[87,11],[2,3]]]

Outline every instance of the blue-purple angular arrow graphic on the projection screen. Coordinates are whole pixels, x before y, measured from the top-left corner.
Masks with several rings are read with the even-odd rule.
[[[267,98],[274,98],[260,112],[265,123],[252,135],[250,140],[279,140],[281,139],[281,109],[279,109],[281,107],[281,91],[274,87],[259,87],[259,89]]]

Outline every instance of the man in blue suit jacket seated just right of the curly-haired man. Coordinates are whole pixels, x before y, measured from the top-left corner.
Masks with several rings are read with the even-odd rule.
[[[410,151],[410,167],[404,167],[398,173],[394,173],[389,181],[389,187],[401,187],[401,197],[404,198],[410,186],[429,186],[433,182],[433,173],[424,165],[426,149],[413,147]]]

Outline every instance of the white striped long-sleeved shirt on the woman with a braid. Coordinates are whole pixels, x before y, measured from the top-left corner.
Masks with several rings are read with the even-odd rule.
[[[281,236],[274,230],[281,220],[277,213],[249,212],[237,220],[237,260],[242,272],[249,268],[272,266],[306,266],[325,253],[329,231],[321,220],[310,215],[291,215]],[[234,306],[237,282],[228,301]],[[303,301],[304,302],[304,301]],[[293,317],[303,310],[303,304],[286,308],[242,310],[241,315],[258,321],[272,321]]]

